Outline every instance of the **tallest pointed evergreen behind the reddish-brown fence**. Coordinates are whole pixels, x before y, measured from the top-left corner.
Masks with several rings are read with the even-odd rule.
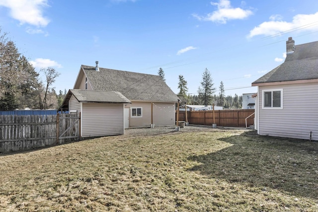
[[[212,105],[215,87],[210,71],[205,69],[202,74],[201,86],[198,88],[200,103],[203,105]]]

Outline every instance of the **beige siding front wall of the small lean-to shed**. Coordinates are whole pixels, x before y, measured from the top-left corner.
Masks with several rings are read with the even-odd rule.
[[[83,103],[82,137],[124,134],[123,104]]]

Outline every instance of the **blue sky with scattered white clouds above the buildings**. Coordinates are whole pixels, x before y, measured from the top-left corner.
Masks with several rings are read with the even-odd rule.
[[[318,40],[317,0],[0,0],[2,32],[37,71],[55,68],[56,91],[72,89],[80,65],[178,75],[196,94],[207,68],[225,94],[284,62],[286,41]]]

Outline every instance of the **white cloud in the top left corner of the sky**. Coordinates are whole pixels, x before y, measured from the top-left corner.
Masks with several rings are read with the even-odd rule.
[[[43,8],[47,7],[48,0],[0,0],[0,6],[10,9],[10,16],[20,24],[28,23],[44,27],[50,22],[42,15]]]

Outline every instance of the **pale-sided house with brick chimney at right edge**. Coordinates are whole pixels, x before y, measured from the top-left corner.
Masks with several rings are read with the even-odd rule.
[[[263,75],[255,105],[259,135],[318,140],[318,41],[286,42],[285,62]]]

